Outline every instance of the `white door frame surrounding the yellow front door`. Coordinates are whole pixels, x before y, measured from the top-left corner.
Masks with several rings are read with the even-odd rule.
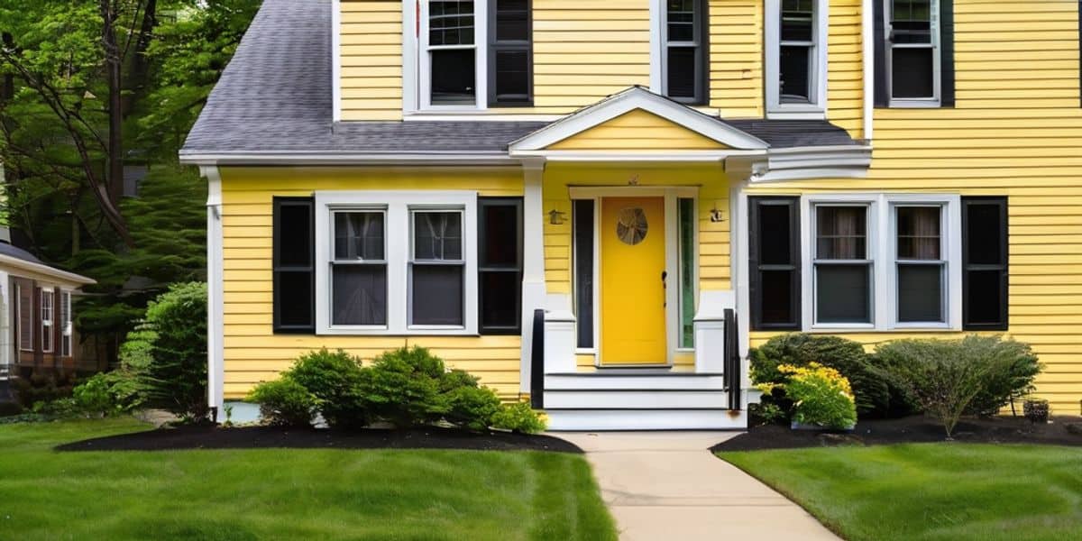
[[[594,337],[593,337],[593,347],[583,348],[576,347],[576,355],[593,355],[594,366],[597,368],[620,368],[624,366],[633,366],[636,368],[643,367],[662,367],[671,368],[673,366],[674,357],[677,353],[694,353],[694,347],[681,347],[679,346],[679,206],[678,199],[691,199],[692,201],[692,213],[696,216],[696,223],[698,224],[699,216],[699,187],[698,186],[569,186],[569,199],[570,200],[592,200],[594,202],[594,253],[593,253],[593,317],[594,317]],[[602,357],[604,352],[602,351],[601,342],[601,328],[602,328],[602,304],[601,304],[601,220],[602,220],[602,199],[607,197],[663,197],[664,208],[665,208],[665,272],[671,277],[675,277],[675,281],[669,282],[670,285],[665,288],[665,360],[664,362],[659,362],[656,365],[603,365]],[[575,224],[571,224],[572,232]],[[698,309],[699,300],[699,227],[696,226],[692,233],[691,243],[695,247],[695,253],[691,254],[691,267],[692,267],[692,296],[696,303],[696,308]],[[573,233],[572,247],[570,250],[571,268],[575,268],[575,249],[573,249]],[[573,275],[573,272],[572,272]],[[675,285],[675,287],[673,287]],[[575,295],[575,288],[578,285],[572,283],[571,298]]]

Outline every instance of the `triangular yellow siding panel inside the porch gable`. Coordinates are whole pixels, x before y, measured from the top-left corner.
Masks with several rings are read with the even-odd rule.
[[[549,150],[714,150],[727,146],[652,113],[635,109],[549,145]]]

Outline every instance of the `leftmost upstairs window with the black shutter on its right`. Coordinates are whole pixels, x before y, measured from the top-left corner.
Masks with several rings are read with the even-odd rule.
[[[407,107],[474,110],[532,102],[530,0],[428,0],[415,28],[417,84]],[[407,25],[409,28],[410,25]],[[407,69],[411,69],[407,66]]]

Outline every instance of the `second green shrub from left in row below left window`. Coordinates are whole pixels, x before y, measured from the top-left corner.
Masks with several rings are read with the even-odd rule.
[[[328,352],[324,348],[302,355],[282,375],[315,397],[319,413],[330,426],[347,428],[368,424],[368,410],[360,397],[365,373],[357,357],[342,349]]]

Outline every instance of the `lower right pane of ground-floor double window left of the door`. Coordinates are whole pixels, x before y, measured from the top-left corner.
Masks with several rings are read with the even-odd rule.
[[[412,325],[461,327],[464,288],[462,266],[413,265],[412,270]]]

